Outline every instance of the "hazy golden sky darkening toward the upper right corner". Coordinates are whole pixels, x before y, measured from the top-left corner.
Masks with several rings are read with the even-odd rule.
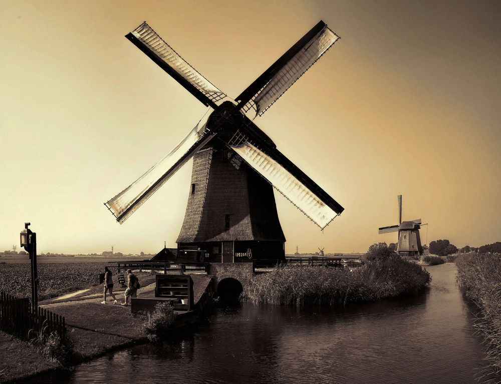
[[[0,249],[175,247],[184,165],[124,224],[103,203],[205,107],[124,38],[143,21],[236,97],[319,20],[341,37],[254,122],[345,211],[321,231],[279,193],[286,252],[365,251],[421,218],[423,243],[501,240],[497,1],[0,2]]]

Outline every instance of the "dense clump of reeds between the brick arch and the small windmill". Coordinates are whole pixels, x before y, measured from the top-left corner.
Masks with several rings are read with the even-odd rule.
[[[421,266],[390,257],[349,269],[285,266],[255,276],[245,298],[254,303],[336,304],[416,294],[431,282]]]

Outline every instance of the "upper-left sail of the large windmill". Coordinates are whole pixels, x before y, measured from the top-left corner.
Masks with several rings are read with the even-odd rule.
[[[165,43],[146,22],[125,37],[206,106],[214,108],[216,102],[226,97]]]

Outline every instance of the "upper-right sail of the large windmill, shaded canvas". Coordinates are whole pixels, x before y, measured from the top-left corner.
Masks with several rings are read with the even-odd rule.
[[[263,115],[338,39],[324,22],[317,24],[237,97],[238,106]]]

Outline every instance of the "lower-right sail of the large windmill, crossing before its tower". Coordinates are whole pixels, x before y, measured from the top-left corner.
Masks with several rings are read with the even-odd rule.
[[[343,211],[343,207],[304,173],[299,171],[300,181],[278,163],[274,159],[277,156],[266,154],[249,141],[233,142],[228,146],[320,228],[324,229]]]

